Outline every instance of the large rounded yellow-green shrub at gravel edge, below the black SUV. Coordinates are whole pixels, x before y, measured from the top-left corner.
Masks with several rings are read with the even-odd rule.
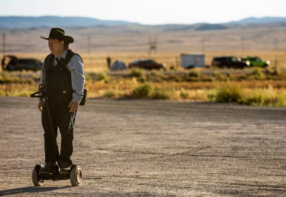
[[[242,90],[238,86],[228,85],[218,89],[215,95],[215,101],[219,103],[238,102],[242,98]]]

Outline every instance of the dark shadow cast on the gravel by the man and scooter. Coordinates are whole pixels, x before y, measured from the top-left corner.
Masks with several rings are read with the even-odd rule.
[[[65,187],[21,187],[15,189],[7,189],[0,191],[0,196],[3,195],[13,195],[13,194],[21,194],[21,193],[35,193],[35,192],[49,192],[57,189],[69,188],[72,186]]]

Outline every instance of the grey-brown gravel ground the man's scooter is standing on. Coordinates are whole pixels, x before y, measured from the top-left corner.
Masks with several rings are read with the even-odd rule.
[[[33,186],[36,99],[0,97],[0,114],[0,196],[286,196],[286,108],[89,99],[74,130],[79,187]]]

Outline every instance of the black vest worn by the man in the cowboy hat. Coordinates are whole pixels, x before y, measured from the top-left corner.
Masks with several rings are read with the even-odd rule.
[[[52,53],[44,60],[46,63],[43,68],[46,74],[44,83],[50,103],[69,103],[71,101],[74,91],[71,86],[71,71],[68,70],[67,65],[75,54],[68,50],[65,59],[61,58],[55,66],[53,64],[55,56]]]

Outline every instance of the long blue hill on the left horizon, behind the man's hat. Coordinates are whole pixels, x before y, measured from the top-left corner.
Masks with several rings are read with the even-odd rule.
[[[92,26],[124,26],[139,25],[126,21],[102,21],[86,17],[0,17],[0,28],[33,28],[33,27],[92,27]]]

